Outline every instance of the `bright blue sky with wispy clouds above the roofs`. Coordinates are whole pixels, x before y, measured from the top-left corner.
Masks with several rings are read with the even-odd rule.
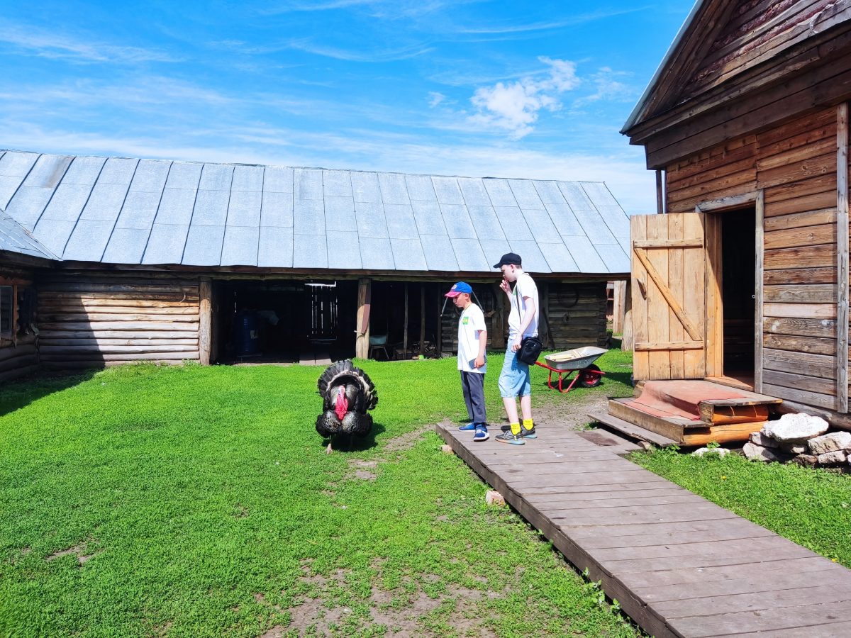
[[[690,3],[3,3],[0,147],[606,181]]]

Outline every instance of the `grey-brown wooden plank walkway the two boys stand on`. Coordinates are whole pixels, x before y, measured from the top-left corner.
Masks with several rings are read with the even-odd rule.
[[[558,425],[456,454],[637,624],[661,636],[851,636],[851,571]],[[613,452],[614,449],[614,452]]]

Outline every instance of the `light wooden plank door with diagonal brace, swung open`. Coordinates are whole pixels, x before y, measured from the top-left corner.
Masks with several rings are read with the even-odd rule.
[[[704,215],[631,218],[636,380],[705,376]]]

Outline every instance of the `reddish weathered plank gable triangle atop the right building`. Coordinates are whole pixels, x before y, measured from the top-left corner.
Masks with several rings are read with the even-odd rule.
[[[835,0],[749,0],[736,3],[723,31],[683,89],[696,95],[756,66],[812,33],[808,23]]]

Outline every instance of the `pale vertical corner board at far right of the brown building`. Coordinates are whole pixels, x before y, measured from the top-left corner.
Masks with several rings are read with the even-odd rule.
[[[837,106],[837,405],[848,412],[848,102]]]

